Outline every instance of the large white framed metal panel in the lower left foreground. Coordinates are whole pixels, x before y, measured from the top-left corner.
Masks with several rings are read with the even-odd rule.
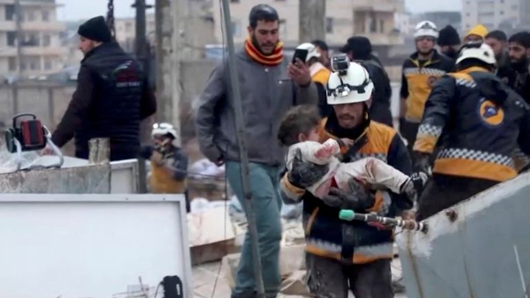
[[[185,219],[182,195],[0,195],[0,297],[110,298],[168,275],[188,297]]]

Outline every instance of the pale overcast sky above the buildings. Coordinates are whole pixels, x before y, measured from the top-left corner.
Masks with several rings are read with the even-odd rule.
[[[218,1],[218,0],[213,0]],[[130,5],[134,0],[114,0],[116,17],[133,17],[134,8]],[[57,3],[63,5],[59,8],[57,14],[59,19],[66,21],[77,21],[79,19],[88,19],[97,15],[106,15],[107,0],[57,0]],[[147,3],[155,3],[155,0],[147,0]],[[431,10],[460,10],[462,0],[405,0],[406,8],[411,12],[424,12]],[[151,9],[153,10],[153,9]]]

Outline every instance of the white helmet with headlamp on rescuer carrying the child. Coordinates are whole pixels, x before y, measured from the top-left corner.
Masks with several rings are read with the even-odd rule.
[[[342,75],[341,75],[342,73]],[[357,103],[372,97],[373,83],[368,70],[351,62],[346,72],[333,72],[329,76],[328,104]]]

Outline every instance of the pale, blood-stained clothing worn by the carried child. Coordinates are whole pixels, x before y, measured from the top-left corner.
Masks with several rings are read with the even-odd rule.
[[[335,139],[328,139],[324,143],[304,141],[289,147],[286,163],[288,170],[291,170],[295,152],[299,150],[302,161],[329,165],[327,174],[313,186],[306,188],[320,199],[328,194],[331,187],[349,190],[348,181],[352,178],[371,186],[383,186],[395,193],[400,193],[404,183],[409,180],[407,175],[373,157],[341,163],[335,157],[340,154],[340,144]]]

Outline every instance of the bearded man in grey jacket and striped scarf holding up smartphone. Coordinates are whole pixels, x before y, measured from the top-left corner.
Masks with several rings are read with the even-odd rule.
[[[235,63],[244,113],[249,179],[253,196],[259,252],[266,297],[276,297],[281,284],[279,241],[282,200],[277,191],[283,150],[276,139],[284,113],[298,104],[317,104],[318,95],[304,61],[284,58],[279,41],[279,17],[268,5],[254,6],[249,15],[248,39]],[[195,125],[204,155],[226,164],[226,176],[239,201],[244,200],[239,147],[227,61],[210,74],[199,98]],[[242,201],[242,205],[243,201]],[[250,235],[245,237],[232,297],[255,297]]]

